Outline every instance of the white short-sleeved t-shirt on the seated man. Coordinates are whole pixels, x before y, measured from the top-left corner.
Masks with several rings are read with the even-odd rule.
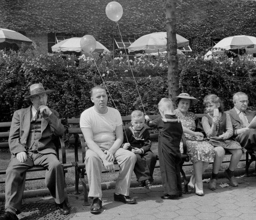
[[[105,114],[99,114],[94,106],[83,111],[80,117],[80,128],[91,128],[94,142],[103,150],[112,147],[116,140],[116,127],[123,124],[120,112],[107,107]]]

